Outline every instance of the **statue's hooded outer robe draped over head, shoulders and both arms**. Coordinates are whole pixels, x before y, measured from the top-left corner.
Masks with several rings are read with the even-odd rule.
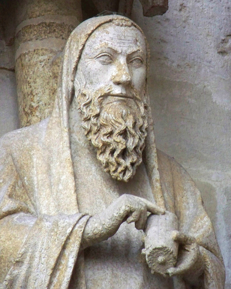
[[[71,34],[51,117],[1,139],[0,282],[4,289],[86,288],[80,243],[90,216],[78,209],[80,192],[71,159],[69,105],[84,43],[94,29],[114,17],[123,18],[90,19]],[[200,245],[205,261],[202,288],[222,289],[223,260],[200,193],[180,165],[164,153],[156,153],[150,112],[144,154],[153,199],[175,212],[180,231],[194,236]],[[172,280],[160,282],[159,288],[173,286]],[[184,281],[181,284],[181,288],[191,288]]]

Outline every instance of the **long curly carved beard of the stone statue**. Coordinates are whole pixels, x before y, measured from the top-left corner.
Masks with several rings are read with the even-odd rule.
[[[134,89],[133,99],[108,96],[110,92],[110,87],[91,92],[75,81],[82,126],[97,148],[97,159],[113,179],[127,182],[142,162],[148,126],[145,104]]]

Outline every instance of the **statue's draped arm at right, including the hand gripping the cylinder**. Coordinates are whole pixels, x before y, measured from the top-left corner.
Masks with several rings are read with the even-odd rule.
[[[171,275],[189,286],[223,289],[225,268],[212,223],[192,178],[173,158],[158,151],[161,184],[167,210],[179,220],[180,257]]]

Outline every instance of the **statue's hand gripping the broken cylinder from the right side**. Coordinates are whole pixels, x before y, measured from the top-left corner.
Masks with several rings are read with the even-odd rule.
[[[177,265],[169,268],[167,273],[170,276],[183,275],[182,277],[193,273],[194,278],[198,278],[203,273],[204,261],[196,239],[182,232],[173,231],[173,240],[179,243]]]

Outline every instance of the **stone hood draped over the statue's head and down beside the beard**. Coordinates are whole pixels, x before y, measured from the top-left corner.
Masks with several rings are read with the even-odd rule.
[[[69,36],[69,39],[66,43],[64,49],[64,57],[63,57],[63,66],[62,73],[60,79],[60,86],[57,92],[57,98],[55,101],[55,106],[53,113],[50,118],[50,123],[59,123],[63,142],[66,146],[69,146],[69,106],[74,95],[74,79],[77,70],[77,65],[81,58],[81,53],[84,49],[84,45],[90,35],[101,25],[105,23],[110,23],[113,20],[117,21],[129,21],[134,27],[136,27],[142,34],[143,31],[141,28],[131,21],[130,19],[121,16],[121,15],[108,15],[108,16],[99,16],[90,18],[84,22],[82,22],[79,26],[77,26],[74,31]],[[144,34],[143,34],[144,36]],[[144,36],[145,38],[145,36]],[[146,51],[147,51],[147,67],[149,63],[149,47],[146,42]],[[157,154],[156,154],[156,145],[155,145],[155,137],[153,130],[153,121],[151,117],[151,109],[149,103],[149,94],[147,89],[147,79],[145,86],[145,96],[146,103],[148,106],[148,131],[147,137],[145,140],[145,149],[143,152],[143,160],[147,169],[147,174],[149,177],[149,182],[152,188],[152,192],[154,195],[154,199],[156,203],[162,207],[164,207],[164,198],[162,194],[162,189],[160,185],[160,175],[158,172],[158,162],[157,162]],[[71,162],[70,149],[69,162]]]

